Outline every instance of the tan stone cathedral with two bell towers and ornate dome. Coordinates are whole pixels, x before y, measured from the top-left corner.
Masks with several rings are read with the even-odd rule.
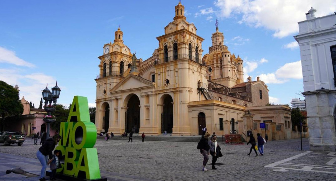
[[[114,43],[103,46],[95,79],[97,131],[200,135],[206,126],[217,135],[247,139],[266,123],[270,140],[294,138],[290,108],[269,105],[269,90],[259,77],[244,82],[243,60],[224,45],[218,26],[203,56],[204,39],[186,21],[180,2],[174,12],[157,37],[158,48],[144,61],[124,44],[120,27]]]

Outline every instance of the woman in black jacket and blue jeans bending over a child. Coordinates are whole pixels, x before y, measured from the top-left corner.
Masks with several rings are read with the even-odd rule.
[[[40,181],[46,181],[45,179],[45,170],[47,169],[47,162],[52,159],[52,150],[55,148],[57,142],[61,139],[59,134],[55,134],[53,137],[46,140],[44,144],[39,148],[36,153],[36,157],[39,159],[42,169]],[[49,159],[48,159],[49,157]]]

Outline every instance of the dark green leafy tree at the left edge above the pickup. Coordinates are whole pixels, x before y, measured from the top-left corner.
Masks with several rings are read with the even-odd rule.
[[[7,116],[20,116],[23,113],[18,91],[11,85],[0,80],[0,125],[3,129]]]

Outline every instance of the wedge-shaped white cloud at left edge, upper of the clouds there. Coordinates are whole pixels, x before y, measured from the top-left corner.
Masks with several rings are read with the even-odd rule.
[[[18,66],[35,67],[34,64],[26,62],[15,55],[14,51],[0,47],[0,63],[10,63]]]

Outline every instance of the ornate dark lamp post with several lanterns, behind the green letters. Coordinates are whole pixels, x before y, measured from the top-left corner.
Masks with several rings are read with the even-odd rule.
[[[43,119],[43,121],[47,123],[46,139],[49,138],[50,123],[55,121],[55,117],[51,116],[51,113],[56,110],[55,109],[56,102],[57,102],[57,99],[59,98],[60,92],[61,92],[61,89],[57,86],[57,81],[56,81],[56,85],[51,89],[51,92],[48,89],[48,84],[47,84],[47,87],[43,89],[42,91],[42,97],[44,100],[44,110],[48,113],[48,115],[46,115],[45,118]],[[48,105],[48,102],[49,102],[49,105]],[[51,105],[52,102],[54,103],[54,105]]]

